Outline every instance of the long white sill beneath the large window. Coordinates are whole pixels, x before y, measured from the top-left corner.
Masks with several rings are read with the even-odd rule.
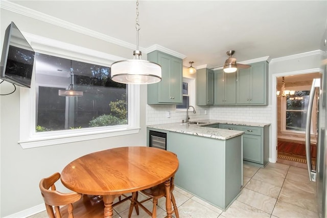
[[[69,134],[58,134],[55,136],[45,136],[39,134],[38,136],[31,137],[27,140],[21,140],[18,142],[21,148],[34,148],[34,147],[42,147],[49,145],[57,145],[57,144],[65,144],[71,142],[80,142],[87,141],[92,139],[100,139],[100,138],[108,138],[114,136],[123,136],[130,134],[137,134],[140,128],[136,127],[122,127],[116,129],[105,129],[105,130],[94,130],[85,134],[85,131],[76,131],[74,133]],[[70,132],[70,131],[69,131]],[[67,132],[66,132],[67,133]]]

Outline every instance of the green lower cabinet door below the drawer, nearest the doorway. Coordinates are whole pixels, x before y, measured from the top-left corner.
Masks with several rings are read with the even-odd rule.
[[[243,134],[243,159],[261,163],[261,136]]]

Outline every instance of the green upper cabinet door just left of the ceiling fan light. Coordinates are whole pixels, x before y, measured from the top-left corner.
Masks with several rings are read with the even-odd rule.
[[[214,103],[216,105],[225,104],[225,78],[223,70],[214,73]]]

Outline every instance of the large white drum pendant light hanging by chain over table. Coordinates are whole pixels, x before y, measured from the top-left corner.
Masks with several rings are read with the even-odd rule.
[[[138,0],[136,1],[136,50],[134,59],[120,60],[111,64],[111,79],[125,84],[151,84],[161,81],[161,66],[157,63],[142,60],[138,50]]]

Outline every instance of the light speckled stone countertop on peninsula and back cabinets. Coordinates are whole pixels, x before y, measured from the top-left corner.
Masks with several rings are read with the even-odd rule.
[[[148,125],[149,128],[156,128],[167,130],[170,132],[184,133],[196,136],[203,136],[213,139],[227,140],[236,136],[242,135],[244,132],[238,130],[229,130],[221,128],[209,128],[202,125],[208,124],[234,124],[234,125],[247,125],[263,127],[270,125],[269,123],[252,123],[252,122],[238,122],[226,120],[191,120],[190,122],[204,122],[204,124],[190,124],[190,123],[166,123],[166,124],[153,124]]]

